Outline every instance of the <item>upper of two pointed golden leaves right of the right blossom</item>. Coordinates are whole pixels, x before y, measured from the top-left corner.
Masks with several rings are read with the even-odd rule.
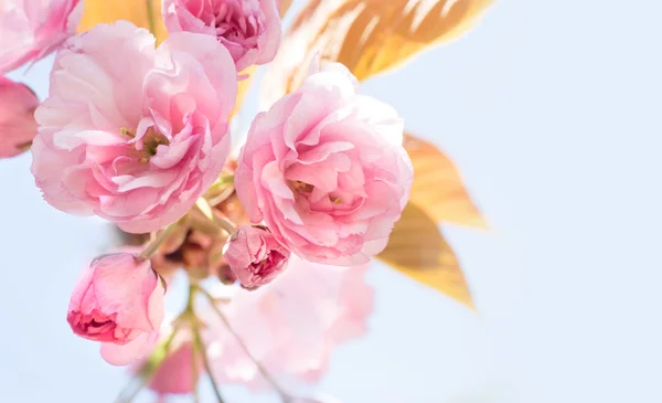
[[[405,134],[405,149],[414,165],[409,201],[435,221],[487,229],[452,161],[434,145]]]

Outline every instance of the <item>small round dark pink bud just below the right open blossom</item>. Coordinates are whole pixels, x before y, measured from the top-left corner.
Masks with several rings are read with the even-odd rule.
[[[270,283],[286,267],[290,252],[265,226],[242,225],[225,245],[223,257],[244,288]]]

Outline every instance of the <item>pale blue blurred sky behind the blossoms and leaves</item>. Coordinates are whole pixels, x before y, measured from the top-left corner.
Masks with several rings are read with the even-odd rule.
[[[468,35],[362,84],[455,160],[491,231],[442,226],[477,312],[373,264],[370,332],[334,351],[314,390],[343,403],[662,402],[660,14],[652,0],[498,1]],[[9,76],[43,99],[51,64]],[[111,402],[126,370],[65,321],[110,226],[47,205],[30,163],[0,160],[0,401]]]

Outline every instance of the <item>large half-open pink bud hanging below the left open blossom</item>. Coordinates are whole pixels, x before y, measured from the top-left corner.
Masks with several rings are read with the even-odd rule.
[[[66,319],[76,335],[102,342],[108,363],[126,365],[156,342],[163,294],[149,259],[129,253],[104,255],[76,284]]]

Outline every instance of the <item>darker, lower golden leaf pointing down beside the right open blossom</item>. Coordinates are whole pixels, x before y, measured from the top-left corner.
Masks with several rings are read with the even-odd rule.
[[[437,223],[409,203],[377,256],[405,275],[473,309],[469,286]]]

